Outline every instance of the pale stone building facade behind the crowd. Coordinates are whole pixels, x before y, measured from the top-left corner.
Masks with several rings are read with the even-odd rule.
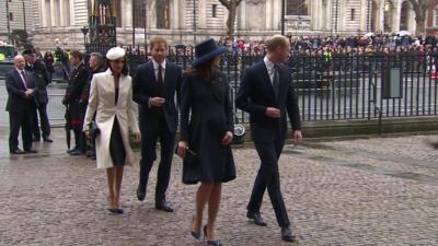
[[[0,0],[0,4],[4,1],[15,4],[10,12],[16,14],[14,26],[19,28],[22,0]],[[25,2],[30,8],[27,32],[34,46],[43,50],[57,45],[83,49],[81,27],[88,26],[92,0]],[[141,45],[157,34],[166,36],[171,44],[193,44],[207,36],[219,38],[226,34],[228,10],[219,0],[112,0],[112,3],[118,44]],[[286,0],[285,3],[286,35],[358,35],[400,30],[415,33],[415,13],[408,0]],[[242,1],[238,7],[235,35],[263,39],[280,33],[281,10],[281,0]],[[5,33],[5,15],[0,13],[0,35]]]

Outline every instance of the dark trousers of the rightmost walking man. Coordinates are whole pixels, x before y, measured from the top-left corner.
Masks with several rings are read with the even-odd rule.
[[[262,163],[246,209],[251,212],[258,212],[262,207],[263,195],[267,188],[278,225],[280,227],[290,226],[278,173],[278,159],[285,144],[285,138],[280,136],[277,129],[253,127],[251,131]]]

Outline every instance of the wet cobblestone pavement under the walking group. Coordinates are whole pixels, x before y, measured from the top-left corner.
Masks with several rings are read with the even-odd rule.
[[[181,183],[175,157],[168,200],[153,208],[157,166],[145,202],[136,199],[138,166],[126,168],[122,215],[105,211],[104,171],[65,151],[62,129],[38,154],[10,156],[0,132],[0,245],[206,245],[189,235],[197,186]],[[234,150],[238,178],[223,187],[218,238],[223,245],[438,245],[438,151],[411,136],[287,145],[281,190],[298,243],[280,241],[267,195],[267,227],[245,219],[256,152]],[[137,153],[138,156],[138,153]]]

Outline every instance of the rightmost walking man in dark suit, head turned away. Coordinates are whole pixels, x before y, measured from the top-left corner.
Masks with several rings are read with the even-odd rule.
[[[266,226],[260,213],[265,189],[269,194],[281,238],[295,241],[290,221],[280,191],[278,159],[287,134],[287,116],[292,126],[292,138],[301,143],[301,120],[295,95],[291,69],[283,65],[290,51],[288,39],[275,35],[266,44],[266,57],[247,68],[235,97],[235,106],[250,114],[251,134],[261,159],[246,216],[255,224]]]

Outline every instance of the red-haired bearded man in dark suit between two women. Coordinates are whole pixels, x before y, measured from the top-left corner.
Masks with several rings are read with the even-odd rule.
[[[165,191],[171,175],[177,125],[175,92],[178,94],[182,72],[176,65],[165,59],[168,43],[164,38],[153,37],[150,47],[152,59],[137,68],[132,81],[132,97],[140,106],[141,130],[137,198],[140,201],[145,199],[149,172],[157,160],[155,147],[160,140],[161,160],[155,187],[155,209],[172,212],[173,209],[165,199]]]

